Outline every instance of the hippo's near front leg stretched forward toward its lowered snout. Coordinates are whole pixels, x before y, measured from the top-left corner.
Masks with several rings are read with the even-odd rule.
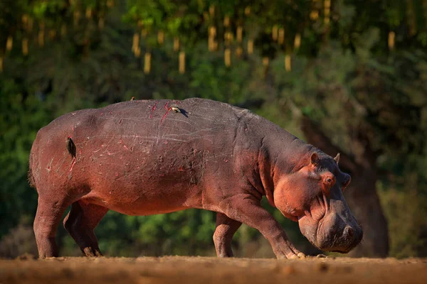
[[[230,219],[251,226],[267,239],[277,258],[305,258],[305,254],[293,246],[280,224],[251,195],[234,196],[221,202],[223,213]]]

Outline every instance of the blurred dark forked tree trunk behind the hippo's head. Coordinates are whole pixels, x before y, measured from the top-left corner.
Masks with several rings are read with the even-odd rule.
[[[307,116],[302,116],[302,132],[310,143],[334,157],[340,153],[339,168],[352,175],[352,182],[344,195],[357,222],[364,231],[363,241],[351,256],[386,257],[389,253],[389,232],[386,218],[376,194],[376,157],[364,142],[364,151],[357,157],[344,153],[327,138]],[[362,141],[357,141],[362,145]]]

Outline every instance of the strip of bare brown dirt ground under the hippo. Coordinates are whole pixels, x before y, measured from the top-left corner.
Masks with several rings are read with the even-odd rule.
[[[427,259],[165,256],[0,260],[9,283],[427,283]]]

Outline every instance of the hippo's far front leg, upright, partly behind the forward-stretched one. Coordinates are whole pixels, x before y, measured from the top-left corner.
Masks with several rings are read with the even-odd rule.
[[[241,226],[241,222],[230,219],[223,213],[216,213],[216,229],[214,232],[214,244],[216,256],[232,257],[231,240],[234,233]]]

